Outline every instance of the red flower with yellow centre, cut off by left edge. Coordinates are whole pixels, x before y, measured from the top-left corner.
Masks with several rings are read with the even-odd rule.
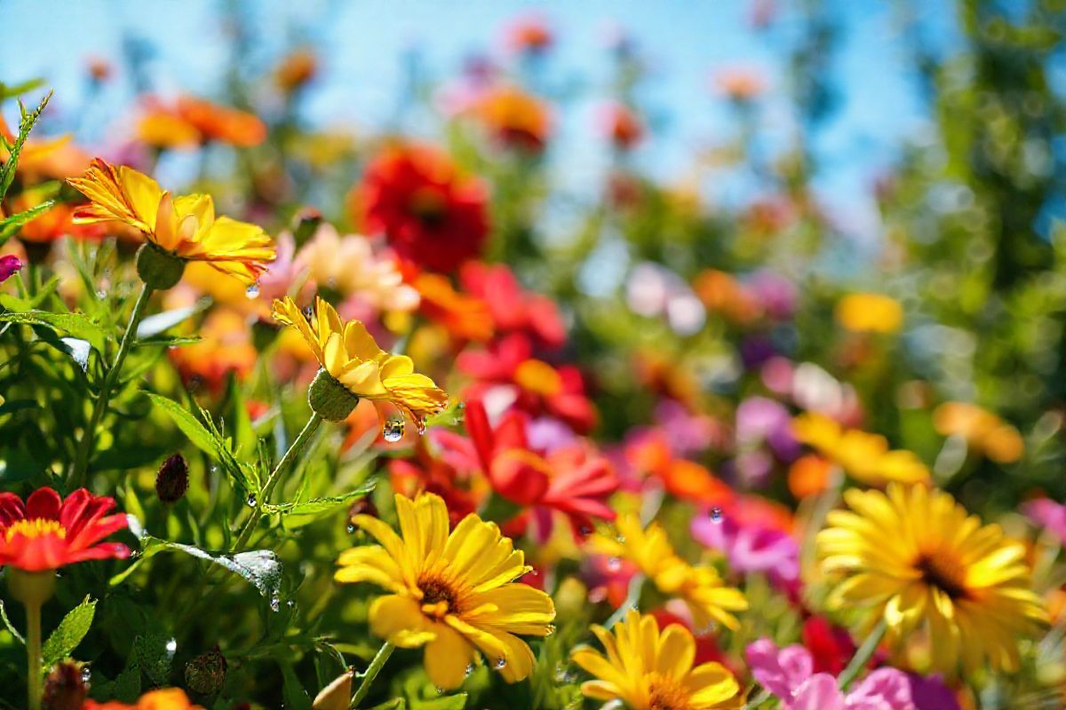
[[[85,489],[66,500],[52,489],[37,489],[26,505],[14,493],[0,493],[0,565],[45,572],[85,560],[129,557],[122,543],[97,544],[127,525],[125,515],[106,515],[114,506],[114,498]]]

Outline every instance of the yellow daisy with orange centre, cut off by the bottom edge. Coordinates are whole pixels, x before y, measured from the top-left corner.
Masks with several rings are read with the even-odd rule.
[[[596,676],[581,692],[596,700],[621,700],[631,710],[727,710],[743,706],[740,684],[721,663],[693,667],[696,643],[683,626],[663,631],[655,616],[630,610],[612,635],[601,626],[593,633],[604,656],[577,648],[574,662]]]

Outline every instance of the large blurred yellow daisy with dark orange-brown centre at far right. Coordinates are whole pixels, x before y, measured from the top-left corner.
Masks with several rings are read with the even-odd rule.
[[[851,510],[830,512],[818,535],[823,573],[844,577],[830,607],[868,610],[894,645],[924,631],[944,673],[959,661],[1018,668],[1019,638],[1047,622],[1023,545],[923,485],[852,489],[844,500]]]

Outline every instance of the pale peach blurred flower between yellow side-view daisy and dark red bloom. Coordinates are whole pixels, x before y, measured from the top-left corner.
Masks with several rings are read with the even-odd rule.
[[[319,286],[356,296],[377,311],[409,313],[418,308],[418,292],[403,282],[393,259],[375,254],[365,236],[341,236],[333,225],[316,230],[296,255],[296,266],[306,267]]]

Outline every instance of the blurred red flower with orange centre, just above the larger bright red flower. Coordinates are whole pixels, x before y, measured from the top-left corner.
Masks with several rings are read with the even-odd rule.
[[[468,398],[480,398],[494,386],[510,386],[518,409],[534,416],[547,413],[579,433],[588,432],[596,424],[596,409],[585,395],[581,373],[532,356],[533,346],[522,333],[511,333],[484,350],[464,350],[456,365],[477,379]]]

